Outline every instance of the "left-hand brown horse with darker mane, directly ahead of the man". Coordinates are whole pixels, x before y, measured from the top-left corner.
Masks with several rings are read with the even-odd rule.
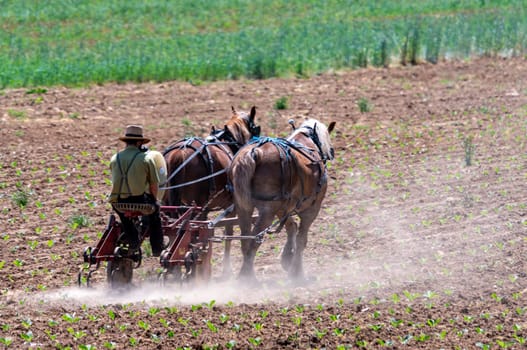
[[[232,107],[232,116],[223,129],[215,130],[206,138],[191,137],[180,140],[165,149],[167,163],[165,205],[196,204],[203,208],[200,220],[206,220],[210,211],[225,209],[232,205],[232,195],[225,190],[226,169],[234,154],[253,137],[260,135],[255,125],[256,108],[249,113],[237,112]],[[225,234],[232,235],[232,226],[226,226]],[[225,241],[223,268],[230,273],[231,242]]]

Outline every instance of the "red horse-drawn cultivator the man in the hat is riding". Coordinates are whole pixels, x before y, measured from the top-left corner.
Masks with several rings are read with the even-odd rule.
[[[124,212],[136,224],[142,243],[149,233],[141,216],[146,215],[149,208],[140,206],[124,208]],[[218,237],[213,239],[214,224],[221,225],[221,222],[213,224],[210,221],[195,220],[201,213],[201,208],[197,206],[161,206],[160,213],[163,235],[169,239],[169,244],[159,259],[163,270],[161,280],[164,281],[169,275],[181,282],[210,279],[211,245],[212,241],[218,241]],[[132,281],[133,270],[141,265],[142,251],[130,251],[122,233],[121,223],[112,214],[97,246],[84,250],[85,264],[78,274],[79,285],[89,286],[93,272],[99,269],[102,262],[107,262],[106,277],[111,287],[127,285]]]

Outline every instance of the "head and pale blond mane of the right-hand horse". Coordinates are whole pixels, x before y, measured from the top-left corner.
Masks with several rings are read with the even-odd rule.
[[[295,138],[296,135],[302,133],[305,136],[313,140],[313,143],[317,146],[320,157],[324,162],[335,158],[335,150],[331,144],[329,135],[335,128],[336,122],[331,122],[328,127],[316,119],[308,118],[302,125],[296,128],[293,133],[289,136],[289,140]]]

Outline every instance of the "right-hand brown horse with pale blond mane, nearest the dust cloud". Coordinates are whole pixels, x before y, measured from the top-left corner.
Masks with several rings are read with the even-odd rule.
[[[294,280],[304,279],[302,254],[308,230],[318,215],[327,189],[326,161],[334,157],[326,127],[307,119],[287,139],[260,138],[238,151],[228,170],[242,236],[240,277],[255,280],[254,258],[261,238],[273,226],[287,231],[282,267]],[[258,218],[251,230],[254,209]],[[293,215],[298,215],[297,225]],[[273,220],[277,219],[273,224]]]

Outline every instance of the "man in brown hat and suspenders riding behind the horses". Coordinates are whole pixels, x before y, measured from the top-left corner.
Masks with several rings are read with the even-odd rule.
[[[112,203],[150,203],[155,206],[154,213],[143,216],[150,227],[150,245],[152,255],[159,256],[163,250],[163,232],[157,195],[159,191],[159,174],[152,157],[147,156],[143,146],[150,142],[143,136],[143,127],[128,125],[125,134],[119,140],[126,143],[124,150],[114,154],[110,161],[112,171],[112,192],[109,202]],[[115,209],[115,207],[114,207]],[[123,224],[125,240],[131,251],[140,247],[139,233],[130,218],[115,210]]]

